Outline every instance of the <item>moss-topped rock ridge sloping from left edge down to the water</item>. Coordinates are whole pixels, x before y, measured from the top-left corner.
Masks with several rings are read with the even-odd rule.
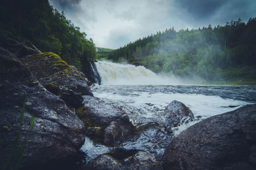
[[[90,82],[74,66],[52,52],[41,53],[29,42],[19,42],[0,33],[0,46],[12,52],[44,87],[61,97],[69,108],[83,106],[82,95],[93,96]]]

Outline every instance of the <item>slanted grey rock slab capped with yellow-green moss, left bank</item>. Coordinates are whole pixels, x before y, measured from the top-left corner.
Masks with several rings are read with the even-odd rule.
[[[38,53],[22,57],[21,60],[40,83],[54,83],[80,95],[93,96],[84,74],[70,67],[58,55],[51,52]]]

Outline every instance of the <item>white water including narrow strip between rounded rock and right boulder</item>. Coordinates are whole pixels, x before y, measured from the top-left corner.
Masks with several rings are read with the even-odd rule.
[[[108,89],[108,86],[102,86],[100,88]],[[120,86],[118,86],[118,88],[120,89]],[[96,97],[114,101],[115,103],[122,105],[124,108],[136,108],[140,110],[141,117],[144,117],[145,119],[156,117],[157,113],[159,113],[157,116],[160,115],[161,117],[161,113],[163,113],[164,108],[171,101],[177,100],[184,103],[191,109],[195,117],[200,117],[200,119],[173,129],[175,136],[177,136],[184,129],[193,124],[196,124],[202,119],[235,110],[239,108],[239,106],[252,104],[245,101],[223,99],[220,96],[205,96],[202,94],[166,94],[164,92],[141,92],[136,88],[134,88],[134,92],[122,94],[118,92],[102,92],[101,90],[100,92],[97,92],[96,89],[97,87],[95,87],[95,91],[93,92]],[[125,87],[123,90],[125,90]],[[148,106],[148,103],[150,103],[152,106]],[[228,106],[237,107],[230,108]],[[130,117],[132,117],[132,115],[130,115]],[[134,121],[132,122],[134,125],[140,122],[140,120],[136,118],[131,118],[131,120]]]

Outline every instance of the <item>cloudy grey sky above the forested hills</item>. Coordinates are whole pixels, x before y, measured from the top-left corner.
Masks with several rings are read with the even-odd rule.
[[[96,46],[118,48],[174,27],[225,25],[256,17],[256,0],[49,0]]]

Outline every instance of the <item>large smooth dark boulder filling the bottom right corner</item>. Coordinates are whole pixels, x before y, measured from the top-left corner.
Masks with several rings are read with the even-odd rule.
[[[256,104],[207,118],[173,139],[164,169],[255,169]]]

